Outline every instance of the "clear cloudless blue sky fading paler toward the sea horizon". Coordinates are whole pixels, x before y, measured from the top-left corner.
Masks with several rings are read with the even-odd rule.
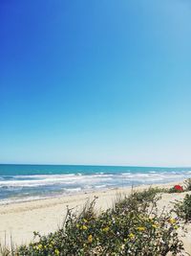
[[[191,166],[191,2],[0,1],[0,163]]]

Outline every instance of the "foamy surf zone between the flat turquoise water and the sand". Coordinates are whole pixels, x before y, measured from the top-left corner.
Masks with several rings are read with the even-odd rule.
[[[148,171],[65,175],[3,175],[0,176],[0,203],[31,200],[138,184],[167,183],[191,177],[191,171]]]

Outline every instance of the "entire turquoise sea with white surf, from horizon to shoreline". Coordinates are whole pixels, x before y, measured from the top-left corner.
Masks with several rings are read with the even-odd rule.
[[[0,204],[191,177],[191,168],[0,165]]]

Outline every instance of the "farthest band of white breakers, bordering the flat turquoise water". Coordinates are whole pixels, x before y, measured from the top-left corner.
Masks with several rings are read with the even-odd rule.
[[[161,180],[177,180],[178,178],[186,178],[190,176],[190,173],[122,173],[117,175],[95,174],[95,175],[15,175],[8,179],[0,179],[0,188],[9,187],[40,187],[50,185],[73,185],[73,184],[101,184],[110,183],[116,181],[116,183],[122,183],[125,181],[161,181]]]

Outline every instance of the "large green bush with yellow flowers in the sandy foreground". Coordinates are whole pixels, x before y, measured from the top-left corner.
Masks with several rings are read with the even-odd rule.
[[[33,256],[164,256],[182,255],[180,219],[159,214],[156,189],[120,197],[114,207],[96,214],[96,198],[80,214],[68,209],[63,227],[48,236],[34,233],[32,244],[15,255]]]

